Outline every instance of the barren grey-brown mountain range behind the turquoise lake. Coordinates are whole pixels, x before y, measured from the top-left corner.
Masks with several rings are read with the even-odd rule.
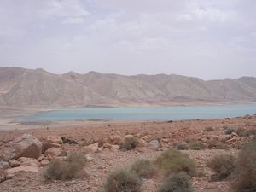
[[[0,105],[73,107],[256,102],[256,78],[204,81],[180,75],[134,75],[0,67]]]

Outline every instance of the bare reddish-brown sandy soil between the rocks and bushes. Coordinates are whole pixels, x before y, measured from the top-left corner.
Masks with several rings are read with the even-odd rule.
[[[205,132],[204,129],[208,126],[213,128],[213,131]],[[47,126],[40,129],[18,129],[12,131],[0,132],[0,147],[9,143],[13,138],[22,135],[23,133],[32,134],[40,140],[44,140],[49,135],[65,136],[74,139],[77,142],[98,141],[102,138],[119,135],[125,136],[133,134],[138,137],[152,136],[155,138],[168,138],[170,143],[183,141],[186,138],[198,138],[206,134],[223,135],[224,126],[233,128],[256,129],[256,115],[239,117],[234,119],[206,119],[206,120],[180,120],[173,122],[80,122],[79,125],[60,125]],[[83,147],[80,145],[64,145],[63,148],[67,151],[80,150]],[[166,147],[169,148],[169,147]],[[166,149],[162,148],[162,149]],[[188,150],[183,151],[185,154],[196,161],[197,167],[204,172],[203,177],[193,177],[192,183],[195,192],[229,192],[229,182],[210,182],[212,171],[207,167],[207,160],[217,154],[237,154],[236,149],[220,150],[220,149],[205,149],[200,151]],[[92,191],[96,192],[104,183],[106,175],[111,170],[117,167],[129,166],[138,157],[154,158],[160,154],[160,151],[154,151],[149,148],[138,148],[135,150],[122,152],[103,150],[100,153],[90,154],[92,161],[85,167],[85,172],[89,177],[74,179],[72,181],[54,181],[45,183],[42,177],[42,172],[39,173],[20,173],[11,180],[0,183],[1,192],[16,192],[16,191]],[[158,179],[149,179],[143,181],[143,192],[155,192],[160,185]]]

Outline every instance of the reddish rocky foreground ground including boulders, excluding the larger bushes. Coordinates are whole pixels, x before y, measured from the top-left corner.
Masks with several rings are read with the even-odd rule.
[[[0,191],[95,192],[113,169],[130,166],[137,158],[152,160],[167,148],[177,148],[195,160],[201,172],[192,177],[196,192],[229,192],[232,191],[229,180],[212,182],[213,173],[207,161],[218,154],[236,156],[241,145],[252,137],[237,134],[239,129],[256,130],[256,115],[3,131],[0,133]],[[137,147],[119,150],[127,137],[136,137]],[[73,151],[83,153],[89,160],[84,167],[86,177],[45,181],[43,172],[50,161],[65,159]],[[159,177],[144,179],[143,191],[155,192],[160,183]]]

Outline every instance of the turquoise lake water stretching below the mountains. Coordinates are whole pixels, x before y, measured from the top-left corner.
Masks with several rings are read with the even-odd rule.
[[[179,120],[231,118],[256,114],[256,104],[192,107],[65,108],[22,116],[21,121],[63,121],[86,119]]]

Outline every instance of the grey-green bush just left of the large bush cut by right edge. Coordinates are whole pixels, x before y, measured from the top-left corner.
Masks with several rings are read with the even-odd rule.
[[[229,154],[220,154],[207,162],[207,165],[215,172],[212,180],[223,180],[230,176],[235,169],[235,158]]]

